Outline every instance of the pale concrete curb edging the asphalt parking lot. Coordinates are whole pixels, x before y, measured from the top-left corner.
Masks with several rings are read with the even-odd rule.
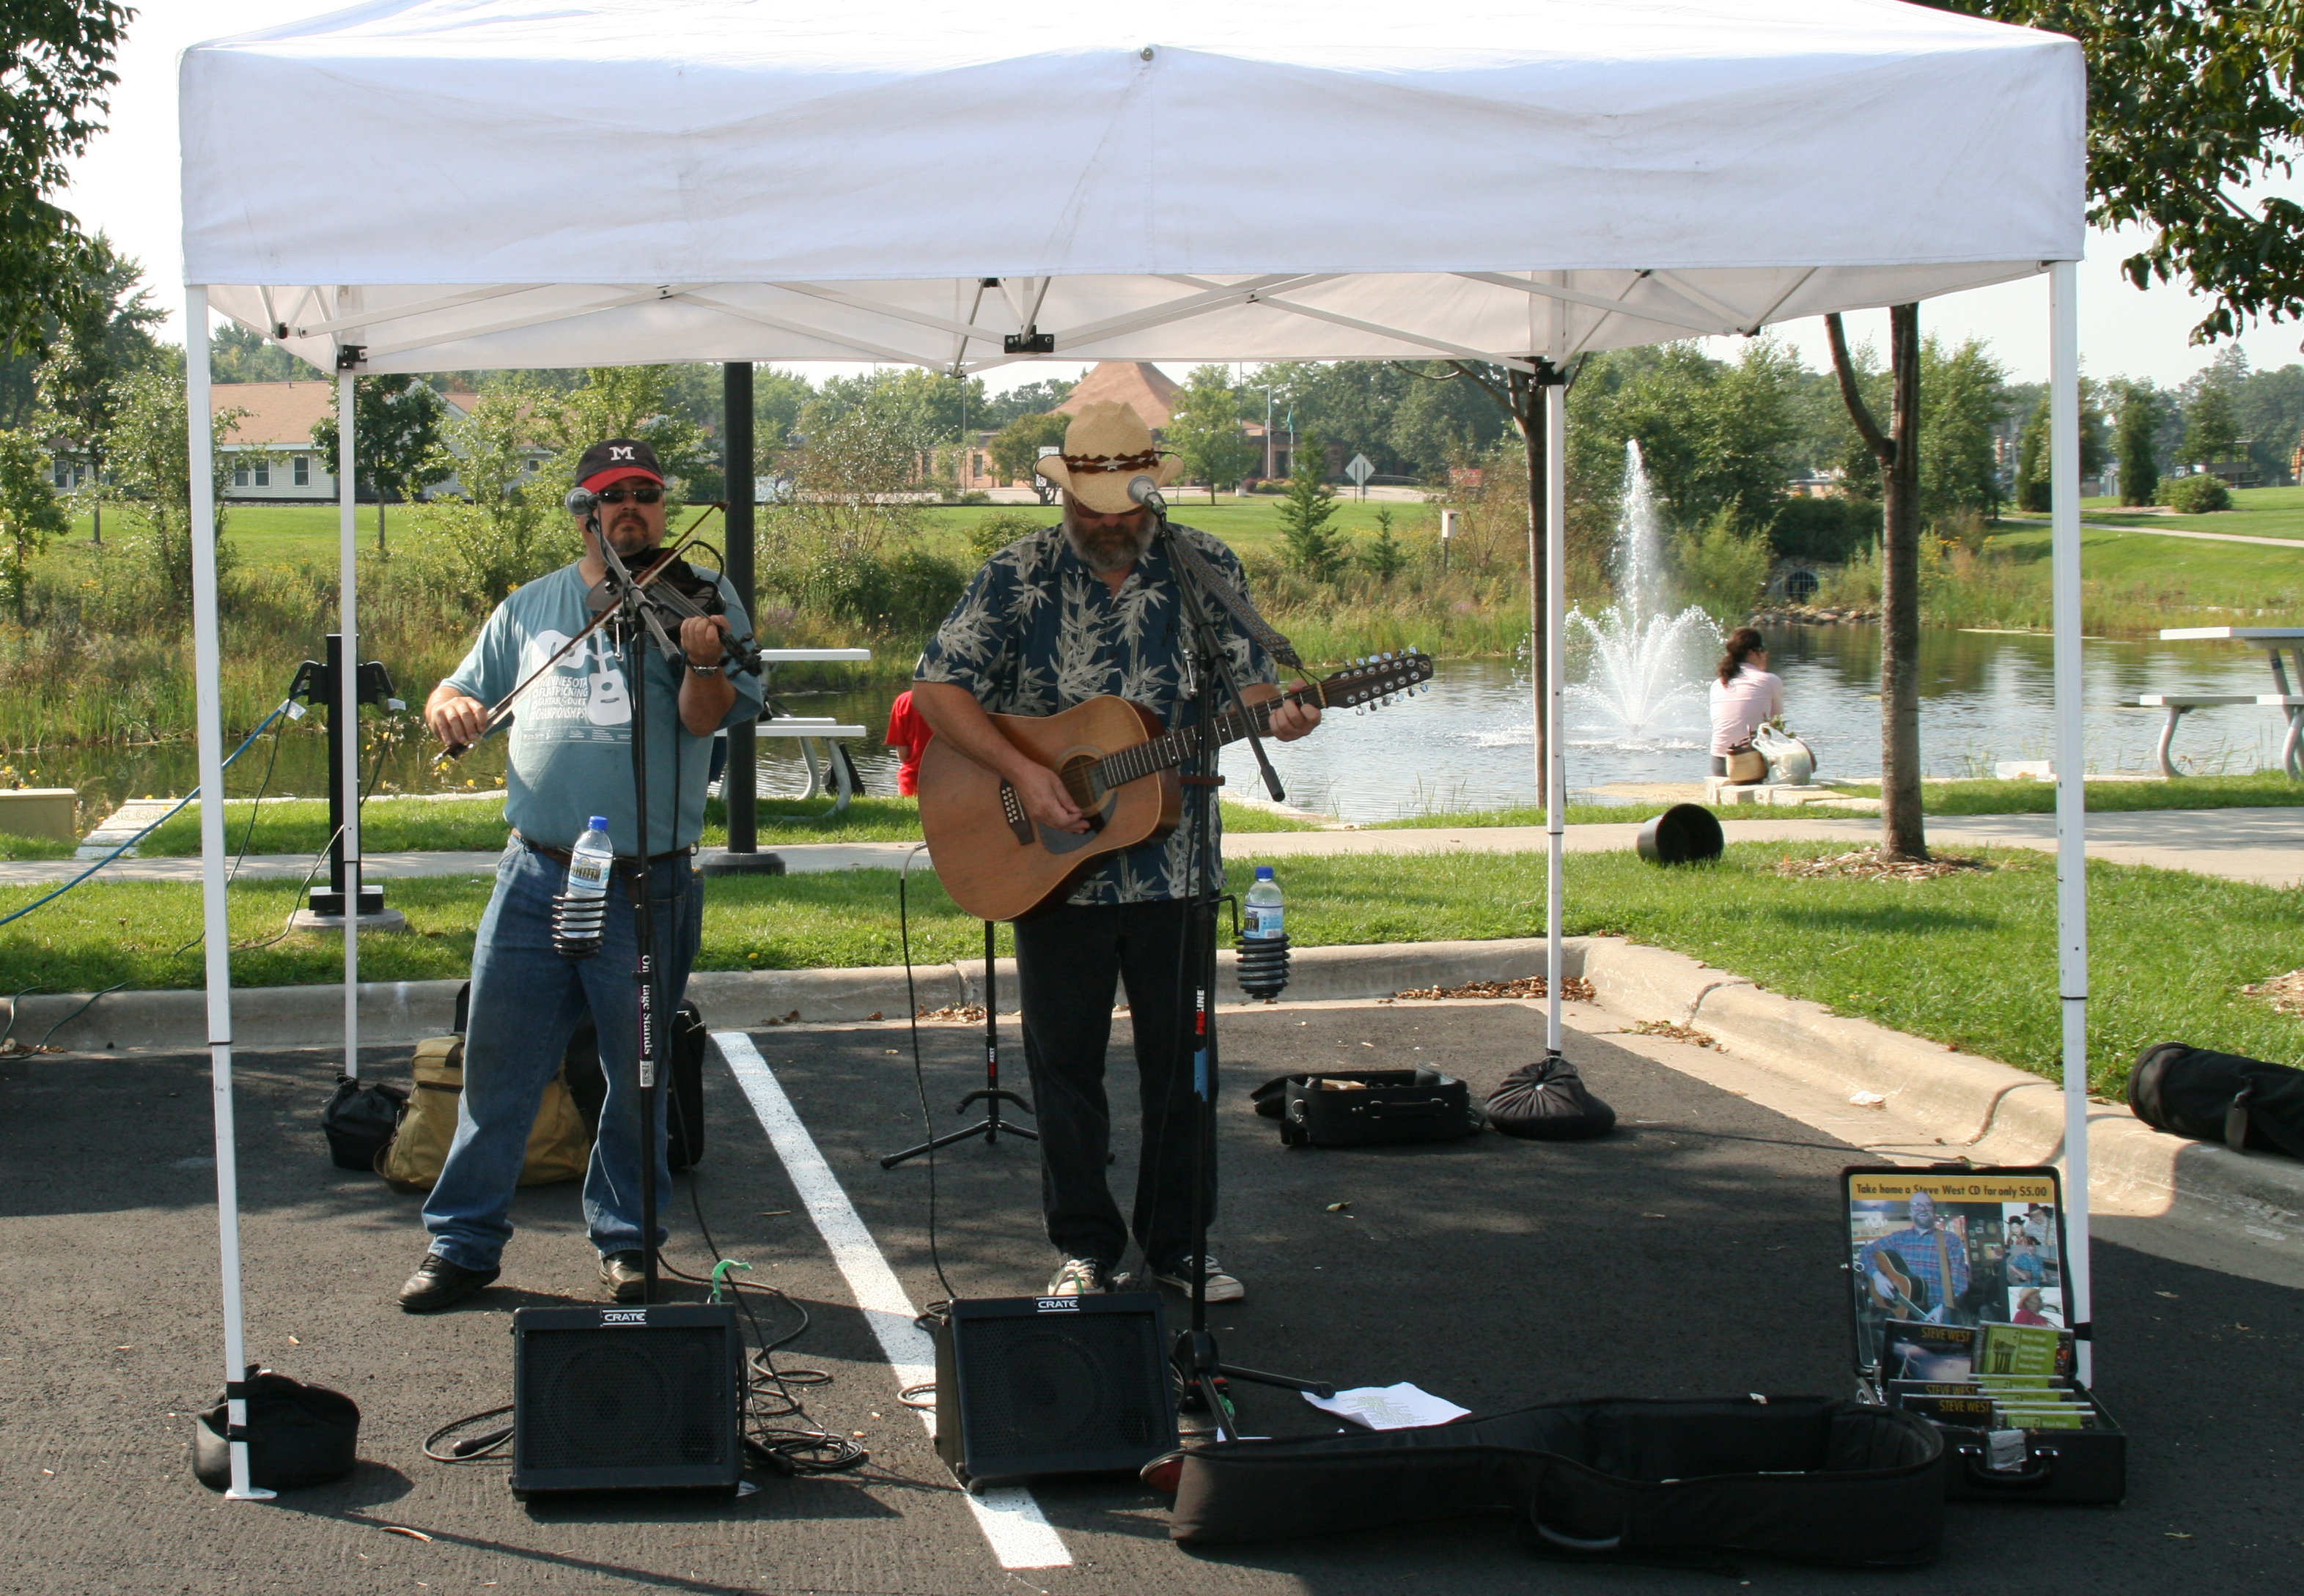
[[[1233,953],[1219,953],[1221,993],[1230,1002]],[[1698,1025],[1726,1052],[1841,1099],[1878,1092],[1896,1110],[1945,1140],[1945,1154],[1977,1163],[2051,1163],[2062,1158],[2064,1096],[2055,1082],[1942,1043],[1836,1016],[1822,1004],[1763,990],[1744,976],[1684,953],[1636,947],[1617,937],[1571,937],[1564,974],[1585,976],[1599,1006],[1627,1020]],[[1389,997],[1419,986],[1509,981],[1544,970],[1544,942],[1401,942],[1378,947],[1297,949],[1288,997],[1350,1002]],[[1016,960],[995,967],[1002,1006],[1014,1002]],[[410,1046],[449,1029],[458,981],[362,983],[359,1036],[366,1046]],[[922,1009],[982,1002],[975,960],[912,967]],[[689,995],[717,1029],[758,1029],[797,1011],[802,1023],[903,1018],[901,965],[859,970],[700,970]],[[18,1013],[0,1000],[16,1036],[71,1052],[184,1052],[207,1046],[200,993],[113,993],[25,997]],[[272,986],[233,993],[233,1043],[240,1048],[325,1048],[343,1036],[343,1006],[332,986]],[[2244,1158],[2226,1147],[2161,1135],[2127,1105],[2097,1103],[2087,1126],[2090,1191],[2127,1209],[2191,1209],[2239,1223],[2269,1239],[2304,1241],[2304,1165],[2276,1156]]]

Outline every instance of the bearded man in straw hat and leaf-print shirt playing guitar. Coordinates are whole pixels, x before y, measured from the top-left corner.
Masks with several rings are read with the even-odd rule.
[[[977,571],[968,592],[919,656],[912,705],[952,751],[1014,785],[1041,827],[1085,834],[1062,778],[1028,758],[991,714],[1048,716],[1097,693],[1115,693],[1189,725],[1193,716],[1189,636],[1175,571],[1154,546],[1157,523],[1129,497],[1129,481],[1175,479],[1143,419],[1120,403],[1083,405],[1064,451],[1039,461],[1062,488],[1062,525],[1009,544]],[[1240,560],[1221,541],[1170,525],[1217,571],[1244,587]],[[1237,629],[1223,647],[1249,702],[1279,698],[1272,659]],[[1272,709],[1270,735],[1304,737],[1320,723],[1313,702]],[[1062,1262],[1051,1297],[1101,1292],[1127,1251],[1145,1251],[1150,1274],[1191,1290],[1207,1278],[1207,1301],[1244,1290],[1214,1257],[1191,1257],[1193,1094],[1182,1080],[1177,995],[1182,990],[1184,898],[1191,891],[1184,829],[1104,854],[1064,903],[1016,919],[1016,974],[1023,988],[1023,1046],[1039,1124],[1041,1204]],[[1122,1223],[1104,1170],[1113,1117],[1104,1094],[1104,1052],[1113,1032],[1115,983],[1129,997],[1136,1034],[1143,1147],[1136,1204]],[[1214,1211],[1214,1170],[1205,1184]]]

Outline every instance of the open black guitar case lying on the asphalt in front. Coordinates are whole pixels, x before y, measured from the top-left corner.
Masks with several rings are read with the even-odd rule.
[[[1498,1515],[1569,1559],[1917,1566],[1942,1548],[1942,1458],[1926,1419],[1822,1396],[1553,1403],[1187,1451],[1170,1534],[1219,1545]]]

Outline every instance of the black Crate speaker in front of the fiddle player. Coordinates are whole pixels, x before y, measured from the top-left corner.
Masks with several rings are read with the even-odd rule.
[[[532,1469],[726,1465],[728,1331],[528,1331],[521,1451]]]

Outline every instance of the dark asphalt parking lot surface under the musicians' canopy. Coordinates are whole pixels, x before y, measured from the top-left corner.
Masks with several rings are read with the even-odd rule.
[[[1014,1020],[1007,1025],[1014,1043]],[[1115,1096],[1129,1064],[1115,1050]],[[878,1156],[922,1133],[903,1025],[753,1036],[866,1251],[915,1304],[945,1297],[926,1163]],[[922,1027],[931,1124],[982,1082],[982,1032]],[[1214,1248],[1249,1285],[1212,1324],[1233,1361],[1339,1386],[1412,1380],[1475,1412],[1583,1396],[1850,1389],[1834,1175],[1866,1161],[1797,1119],[1606,1036],[1569,1055],[1622,1128],[1592,1145],[1486,1133],[1447,1147],[1281,1149],[1249,1089],[1286,1069],[1435,1064],[1486,1092],[1541,1043],[1521,1004],[1352,1004],[1223,1018],[1223,1221]],[[1021,1048],[1009,1048],[1021,1062]],[[406,1078],[406,1050],[369,1069]],[[502,1465],[422,1456],[435,1426],[511,1396],[509,1310],[597,1301],[574,1186],[523,1191],[500,1285],[410,1317],[392,1294],[424,1251],[415,1198],[327,1163],[327,1052],[242,1055],[237,1112],[249,1356],[364,1407],[362,1467],[274,1504],[226,1504],[189,1476],[189,1414],[221,1380],[207,1059],[0,1059],[0,1211],[9,1218],[0,1382],[9,1490],[0,1591],[1242,1591],[1449,1596],[1521,1589],[1691,1591],[1716,1575],[1532,1561],[1500,1522],[1191,1555],[1134,1479],[1041,1481],[1032,1499],[1069,1561],[1005,1568],[919,1421],[896,1405],[871,1322],[770,1147],[753,1099],[707,1064],[707,1149],[668,1195],[670,1260],[723,1255],[788,1294],[779,1359],[832,1375],[811,1412],[873,1453],[850,1476],[767,1479],[742,1502],[518,1504]],[[1016,1082],[1011,1082],[1016,1085]],[[1122,1108],[1122,1119],[1131,1112]],[[1115,1191],[1127,1191],[1124,1135]],[[1025,1142],[972,1142],[933,1175],[935,1255],[965,1297],[1032,1294],[1039,1234]],[[820,1202],[825,1191],[813,1191]],[[1329,1211],[1332,1204],[1350,1204]],[[850,1234],[850,1269],[855,1237]],[[1852,1575],[1749,1561],[1788,1591],[1862,1587],[2138,1591],[2276,1589],[2304,1416],[2304,1292],[2099,1241],[2099,1393],[2131,1432],[2117,1508],[1947,1508],[1931,1573]],[[682,1287],[687,1290],[687,1287]],[[1170,1299],[1177,1304],[1177,1299]],[[885,1306],[885,1304],[882,1304]],[[1177,1304],[1180,1306],[1180,1304]],[[1299,1398],[1240,1389],[1249,1432],[1322,1432]],[[429,1538],[394,1534],[415,1529]],[[1014,1561],[1014,1557],[1011,1557]]]

